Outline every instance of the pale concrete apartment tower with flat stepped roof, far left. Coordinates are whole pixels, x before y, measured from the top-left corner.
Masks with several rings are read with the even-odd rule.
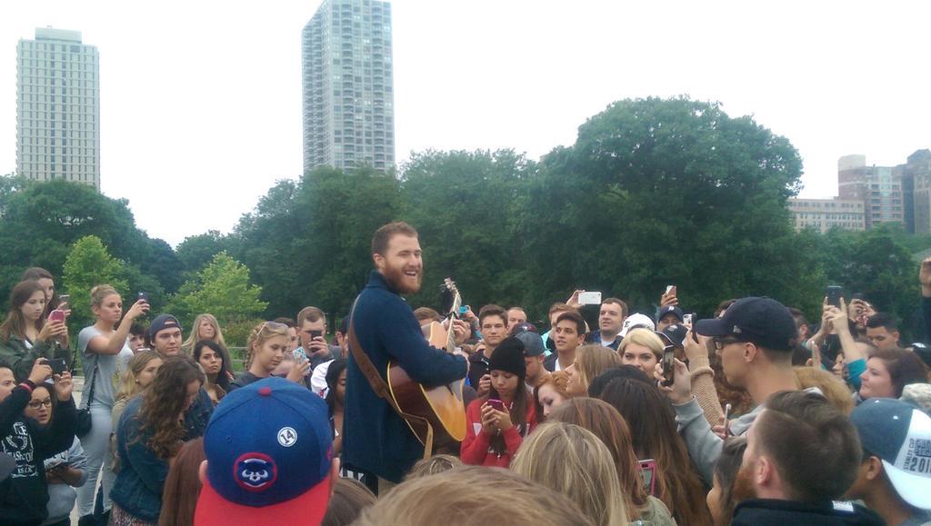
[[[36,29],[16,47],[16,170],[101,189],[100,60],[81,33]]]

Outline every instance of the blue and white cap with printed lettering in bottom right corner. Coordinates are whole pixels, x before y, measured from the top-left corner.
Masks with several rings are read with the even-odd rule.
[[[878,456],[902,500],[931,509],[931,417],[893,398],[870,398],[850,413],[863,449]]]

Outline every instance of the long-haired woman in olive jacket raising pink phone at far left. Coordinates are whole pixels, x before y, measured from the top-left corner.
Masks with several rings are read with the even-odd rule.
[[[20,281],[9,293],[9,312],[0,325],[0,361],[7,363],[18,380],[29,376],[40,357],[68,358],[69,351],[53,342],[63,339],[63,321],[47,321],[46,293],[35,281]]]

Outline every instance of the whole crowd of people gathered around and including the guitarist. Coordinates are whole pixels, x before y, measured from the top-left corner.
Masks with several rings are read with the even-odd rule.
[[[0,524],[931,524],[931,353],[868,298],[809,324],[766,297],[699,319],[674,286],[650,313],[577,290],[542,331],[520,306],[412,308],[406,223],[371,253],[340,323],[264,321],[242,359],[216,317],[185,331],[107,284],[69,328],[28,269],[0,325]],[[931,334],[931,259],[919,287]],[[449,385],[461,440],[399,406],[395,366]]]

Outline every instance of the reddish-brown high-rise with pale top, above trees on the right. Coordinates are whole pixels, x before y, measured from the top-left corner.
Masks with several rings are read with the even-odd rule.
[[[846,155],[837,163],[838,194],[862,201],[869,230],[879,223],[904,224],[902,182],[893,168],[866,166],[864,155]]]

